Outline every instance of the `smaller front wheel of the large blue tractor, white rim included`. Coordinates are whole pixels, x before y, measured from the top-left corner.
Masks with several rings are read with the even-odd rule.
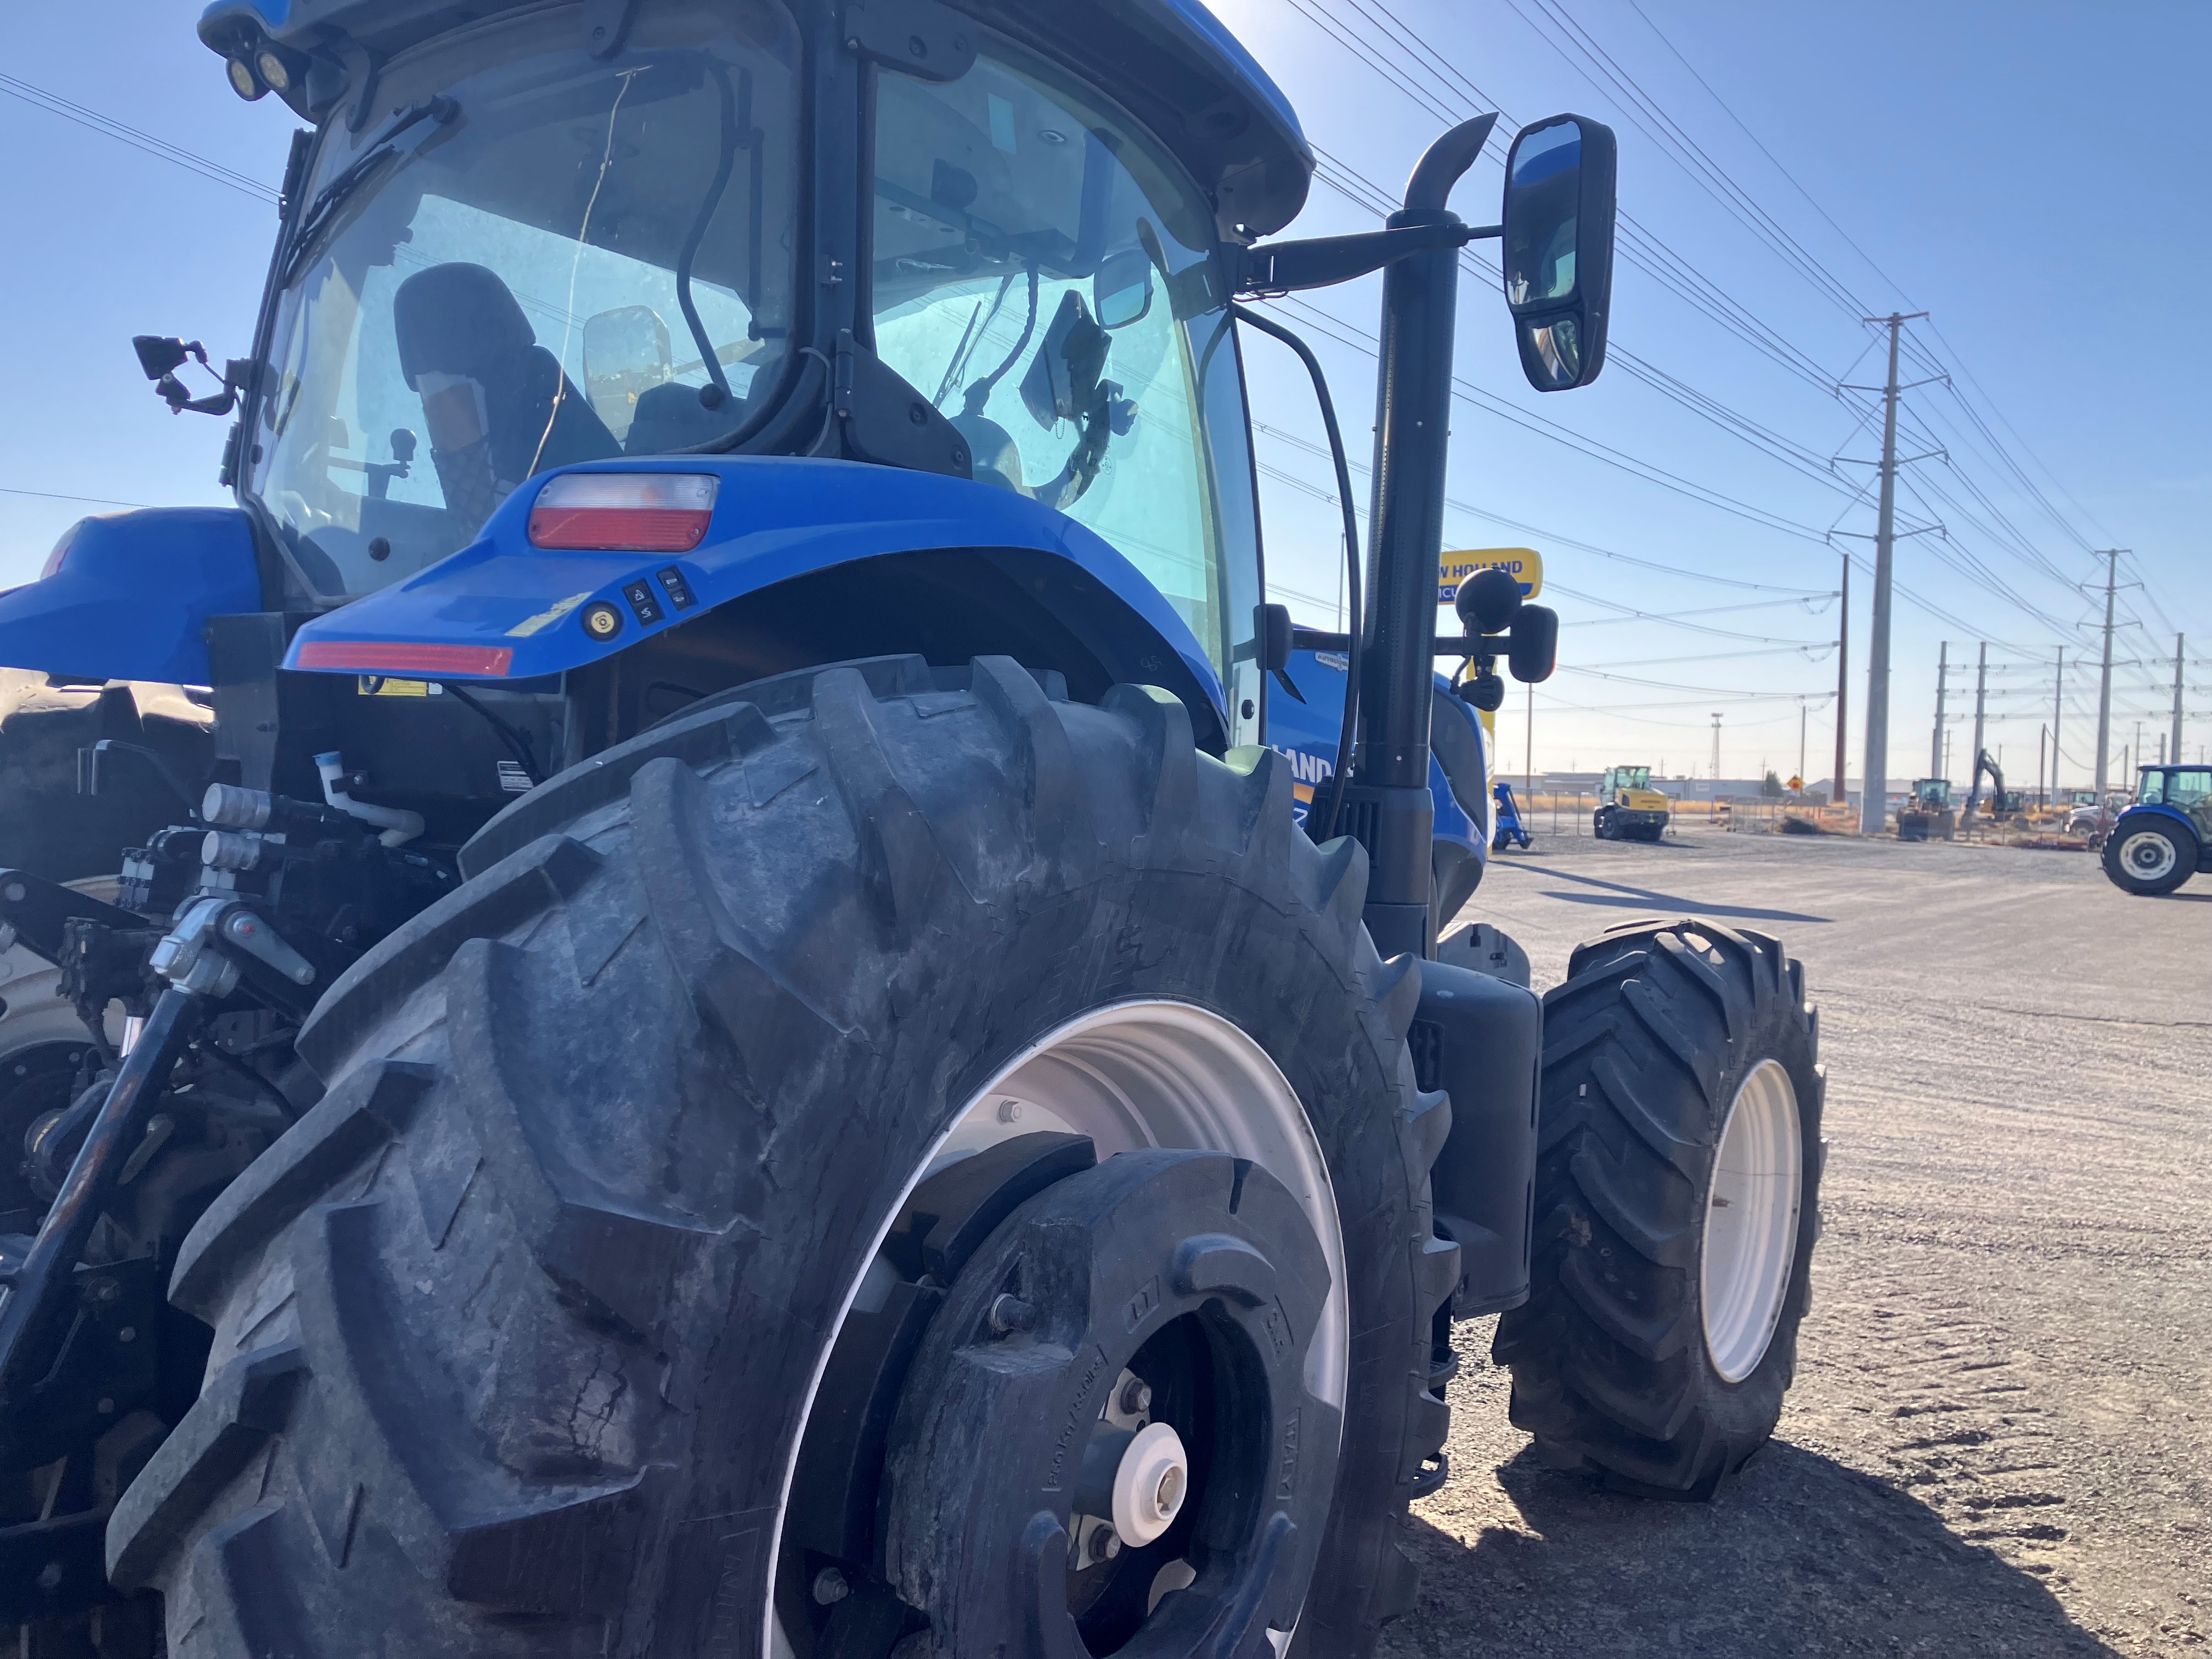
[[[1776,940],[1630,922],[1544,995],[1535,1263],[1498,1323],[1559,1467],[1712,1498],[1774,1433],[1818,1237],[1818,1026]]]

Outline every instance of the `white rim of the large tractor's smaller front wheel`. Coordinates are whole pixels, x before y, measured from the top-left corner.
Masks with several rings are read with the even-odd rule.
[[[1778,1060],[1761,1060],[1721,1128],[1699,1270],[1705,1352],[1728,1383],[1756,1371],[1774,1340],[1796,1265],[1803,1179],[1796,1088]]]

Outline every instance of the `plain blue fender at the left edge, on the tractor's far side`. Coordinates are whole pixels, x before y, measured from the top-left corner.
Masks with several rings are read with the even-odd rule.
[[[80,520],[62,568],[0,593],[0,666],[206,686],[210,617],[261,608],[252,520],[148,507]]]

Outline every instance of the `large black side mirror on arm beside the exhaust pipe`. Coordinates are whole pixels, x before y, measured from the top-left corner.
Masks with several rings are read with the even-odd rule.
[[[1588,385],[1606,365],[1615,161],[1613,128],[1582,115],[1524,126],[1506,157],[1500,261],[1537,392]]]

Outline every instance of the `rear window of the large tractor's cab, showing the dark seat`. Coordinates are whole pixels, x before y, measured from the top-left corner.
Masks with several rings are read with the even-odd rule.
[[[772,0],[445,35],[332,119],[279,254],[246,480],[341,599],[549,467],[734,431],[790,334],[799,40]]]

